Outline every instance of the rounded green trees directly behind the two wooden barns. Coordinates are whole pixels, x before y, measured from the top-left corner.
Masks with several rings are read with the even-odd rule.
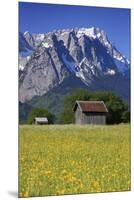
[[[104,101],[108,113],[107,124],[119,124],[130,122],[130,109],[123,100],[112,92],[89,92],[85,89],[78,89],[65,96],[63,109],[58,119],[59,124],[74,123],[73,106],[76,100],[81,101]],[[33,123],[35,117],[47,117],[49,124],[55,123],[54,114],[43,108],[34,108],[28,116],[28,123]]]

